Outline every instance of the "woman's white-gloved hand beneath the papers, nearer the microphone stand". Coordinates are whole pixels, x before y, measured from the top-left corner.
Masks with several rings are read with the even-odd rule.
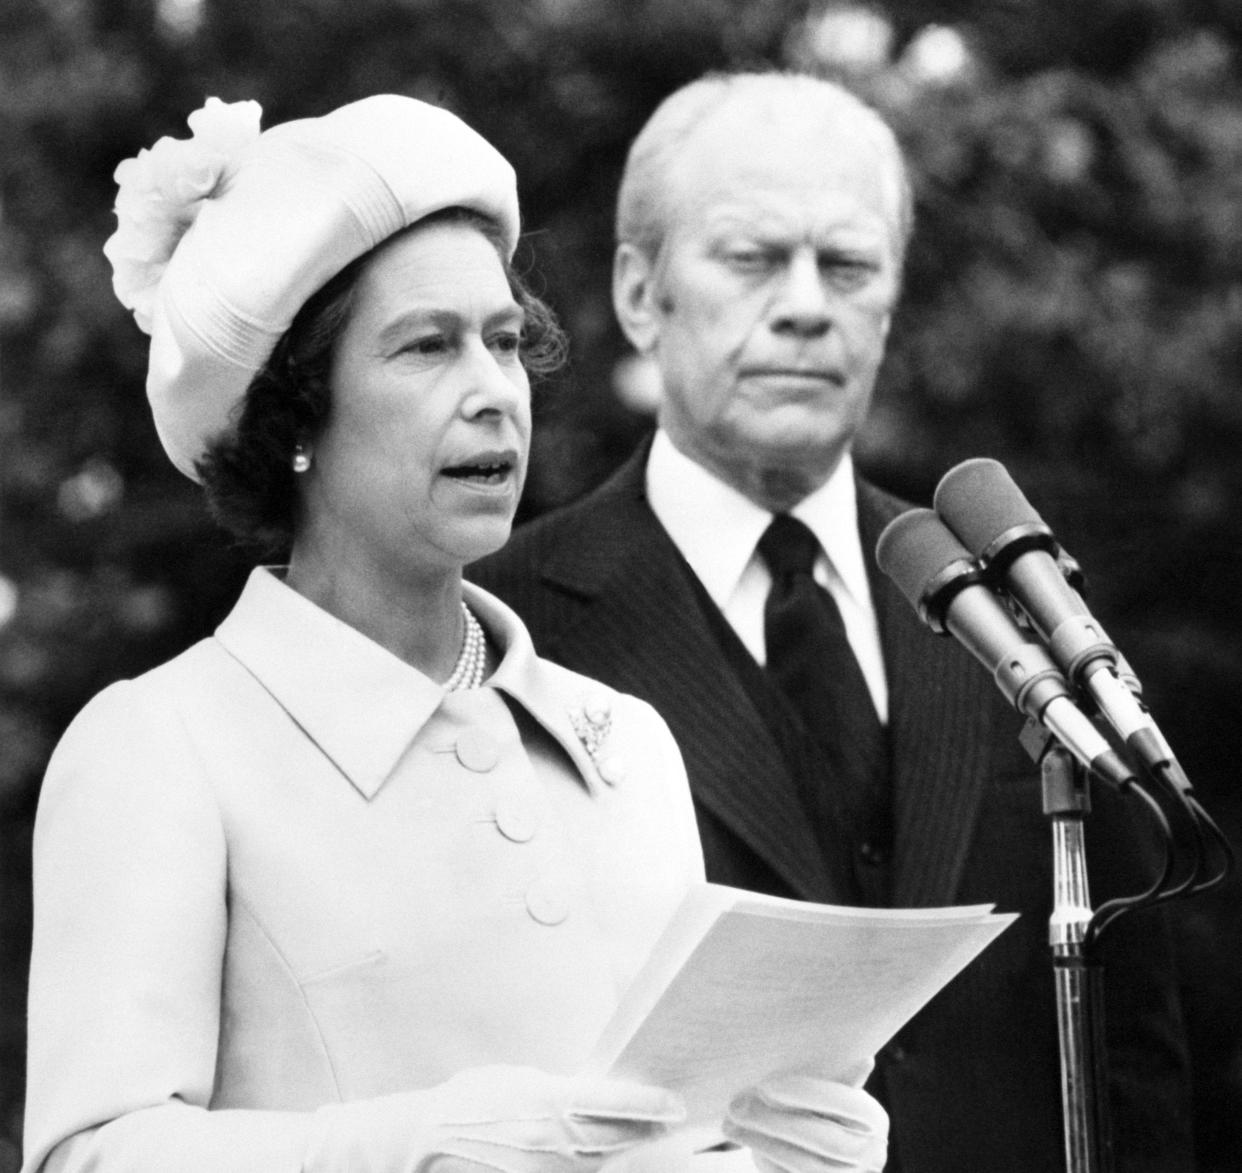
[[[801,1072],[774,1075],[729,1105],[724,1134],[764,1173],[881,1173],[888,1113],[861,1087]]]

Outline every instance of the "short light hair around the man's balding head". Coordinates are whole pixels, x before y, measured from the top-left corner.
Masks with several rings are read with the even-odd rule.
[[[617,193],[616,235],[655,258],[673,220],[672,173],[694,130],[730,102],[775,102],[797,117],[859,132],[884,164],[887,215],[897,256],[905,253],[914,225],[914,198],[905,159],[887,122],[843,86],[810,73],[708,73],[674,91],[647,119],[630,147]]]

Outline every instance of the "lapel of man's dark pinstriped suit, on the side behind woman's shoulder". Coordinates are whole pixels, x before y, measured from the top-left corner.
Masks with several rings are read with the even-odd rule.
[[[647,446],[543,567],[565,613],[542,651],[646,697],[668,722],[697,800],[804,898],[831,892],[794,782],[704,620],[692,573],[646,502]],[[704,686],[709,682],[709,687]]]

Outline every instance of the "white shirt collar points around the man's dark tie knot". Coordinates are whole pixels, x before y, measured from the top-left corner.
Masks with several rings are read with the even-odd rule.
[[[661,524],[722,609],[755,557],[773,514],[727,485],[656,432],[647,461],[647,500]],[[858,537],[853,461],[846,452],[832,476],[791,511],[823,547],[845,589],[868,601]]]

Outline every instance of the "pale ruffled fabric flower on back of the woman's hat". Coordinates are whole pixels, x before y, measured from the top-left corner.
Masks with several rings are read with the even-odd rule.
[[[117,181],[117,231],[103,246],[112,262],[112,287],[152,332],[155,291],[176,251],[235,160],[258,138],[262,107],[257,102],[207,98],[186,119],[193,138],[161,138],[150,149],[125,159]]]

